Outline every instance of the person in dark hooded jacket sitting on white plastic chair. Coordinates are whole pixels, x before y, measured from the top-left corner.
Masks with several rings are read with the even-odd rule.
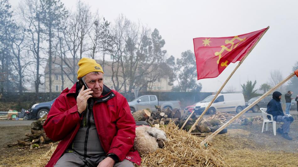
[[[290,132],[290,124],[293,122],[293,117],[285,116],[283,109],[281,108],[281,93],[280,92],[273,92],[272,100],[267,104],[267,113],[273,116],[273,120],[277,122],[284,122],[280,128],[276,131],[282,134],[282,137],[288,140],[292,140],[292,138],[288,135]],[[271,117],[267,116],[269,119]]]

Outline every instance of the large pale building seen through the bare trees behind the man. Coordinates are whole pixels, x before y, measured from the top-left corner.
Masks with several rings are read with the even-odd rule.
[[[76,60],[76,65],[75,65],[75,78],[77,78],[77,69],[78,69],[78,65],[77,62],[79,61],[79,59]],[[63,67],[63,73],[61,71],[61,59],[60,58],[56,58],[56,60],[54,61],[54,63],[52,63],[52,92],[61,92],[63,89],[65,88],[71,88],[73,85],[73,82],[71,81],[72,78],[74,78],[74,76],[71,74],[71,69],[69,68],[69,66],[72,67],[72,62],[73,59],[72,58],[68,58],[66,60],[67,64],[66,65],[64,62],[62,63],[62,67]],[[102,61],[101,60],[96,60],[97,63],[102,65]],[[111,64],[112,62],[109,61],[105,61],[105,65],[104,65],[104,84],[107,85],[109,88],[111,89],[115,89],[114,88],[114,84],[113,84],[113,80],[112,80],[112,68],[111,68]],[[68,76],[65,74],[68,73]],[[64,80],[64,85],[62,85],[62,75],[63,75],[63,80]],[[114,78],[116,77],[115,74],[113,76]],[[125,83],[123,83],[123,78],[121,76],[121,74],[118,74],[118,80],[119,80],[119,84],[123,85],[122,88],[120,89],[119,92],[124,91],[124,86],[126,86],[126,88],[129,87],[129,82],[126,81]],[[115,79],[114,79],[115,80]],[[146,80],[150,80],[149,78],[146,78],[144,82],[146,82]],[[75,80],[75,82],[77,82],[77,79]],[[115,83],[117,84],[117,83]],[[49,63],[46,64],[45,67],[45,84],[44,84],[44,89],[45,92],[49,92]],[[169,76],[168,75],[164,75],[160,78],[157,78],[155,82],[149,82],[146,88],[146,91],[160,91],[160,92],[166,92],[166,91],[171,91],[173,87],[173,84],[170,82],[169,80]]]

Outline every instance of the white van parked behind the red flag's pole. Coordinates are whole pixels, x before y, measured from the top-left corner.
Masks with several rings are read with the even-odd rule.
[[[195,113],[201,114],[215,95],[208,96],[206,99],[195,105]],[[213,104],[211,104],[208,113],[216,112],[235,112],[239,113],[245,108],[245,100],[243,94],[219,94]]]

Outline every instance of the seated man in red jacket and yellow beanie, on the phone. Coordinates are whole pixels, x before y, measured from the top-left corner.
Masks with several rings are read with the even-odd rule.
[[[82,58],[77,79],[55,100],[43,125],[60,141],[46,167],[133,167],[141,158],[133,149],[136,122],[123,95],[104,85],[95,60]]]

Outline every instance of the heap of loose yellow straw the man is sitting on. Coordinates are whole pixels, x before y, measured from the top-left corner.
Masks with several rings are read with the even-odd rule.
[[[186,166],[221,166],[228,167],[229,164],[223,159],[212,143],[208,143],[207,148],[200,146],[202,138],[188,134],[170,122],[161,128],[166,133],[167,141],[164,149],[145,154],[140,153],[142,162],[141,167],[186,167]],[[56,148],[53,147],[45,156],[42,156],[36,166],[44,166],[50,159],[51,154]],[[135,166],[137,166],[135,164]]]

